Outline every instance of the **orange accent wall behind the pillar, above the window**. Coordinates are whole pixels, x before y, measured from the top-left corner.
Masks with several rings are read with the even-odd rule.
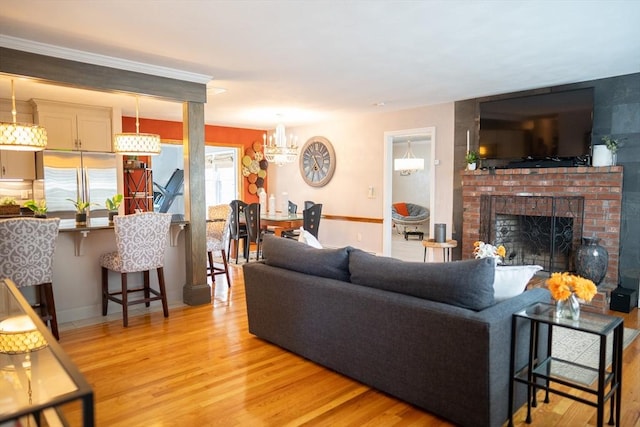
[[[140,132],[141,133],[155,133],[160,135],[162,140],[182,141],[182,122],[172,122],[167,120],[155,120],[155,119],[143,119],[140,118]],[[122,131],[123,132],[135,132],[136,131],[136,119],[135,117],[122,117]],[[262,143],[262,135],[264,130],[258,129],[244,129],[225,126],[213,126],[205,125],[204,127],[204,140],[205,144],[229,144],[229,145],[241,145],[243,147],[241,157],[238,160],[242,160],[247,148],[250,148],[254,142]],[[269,173],[265,179],[264,188],[268,193],[268,179]],[[255,194],[249,194],[249,185],[246,178],[241,177],[240,185],[242,187],[242,200],[247,203],[258,202],[258,196]]]

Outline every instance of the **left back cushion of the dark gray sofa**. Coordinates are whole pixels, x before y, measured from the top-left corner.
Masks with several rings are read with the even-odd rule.
[[[351,249],[317,249],[296,240],[266,235],[262,257],[267,265],[348,282]]]

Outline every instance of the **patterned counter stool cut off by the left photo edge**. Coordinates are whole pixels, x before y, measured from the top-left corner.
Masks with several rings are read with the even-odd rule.
[[[52,281],[59,225],[60,218],[0,220],[0,277],[13,280],[18,288],[34,287],[33,308],[56,339],[60,336]]]

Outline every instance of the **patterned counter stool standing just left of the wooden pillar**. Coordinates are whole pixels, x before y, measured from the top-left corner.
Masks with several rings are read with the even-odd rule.
[[[100,256],[102,267],[102,315],[107,315],[108,302],[122,305],[122,324],[127,326],[128,307],[144,303],[149,307],[151,301],[162,301],[164,317],[169,317],[167,292],[164,284],[164,252],[171,225],[170,213],[141,212],[133,215],[119,215],[113,219],[116,234],[117,252]],[[158,273],[158,290],[149,284],[149,271]],[[109,291],[109,270],[120,273],[122,288]],[[129,289],[127,274],[143,272],[143,285]],[[131,293],[142,293],[138,299],[129,299]]]

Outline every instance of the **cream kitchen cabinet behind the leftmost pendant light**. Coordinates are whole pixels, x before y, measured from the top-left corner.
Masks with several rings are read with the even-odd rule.
[[[33,116],[26,111],[28,105],[18,103],[16,121],[18,123],[33,123]],[[23,108],[24,107],[24,108]],[[24,111],[22,111],[24,110]],[[11,102],[0,100],[0,121],[11,123]],[[36,158],[32,151],[0,150],[0,178],[1,179],[36,179]]]

